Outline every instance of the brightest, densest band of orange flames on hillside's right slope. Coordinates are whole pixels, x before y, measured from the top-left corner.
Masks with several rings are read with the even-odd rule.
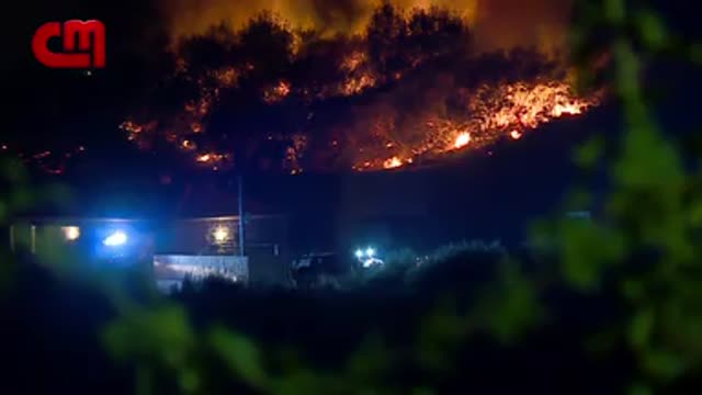
[[[389,143],[377,144],[383,144],[386,149],[395,146],[409,148],[412,160],[438,158],[461,148],[479,149],[505,136],[520,139],[526,129],[536,128],[563,115],[584,113],[597,105],[599,93],[591,98],[577,98],[562,81],[485,84],[465,97],[468,111],[463,119],[439,117],[430,113],[424,122],[419,123],[423,127],[417,131],[397,129],[392,122],[378,122],[373,135],[385,142],[393,136]],[[423,138],[408,138],[417,134]],[[361,147],[353,169],[370,171],[393,168],[388,166],[389,159],[378,159],[387,155],[386,149]]]

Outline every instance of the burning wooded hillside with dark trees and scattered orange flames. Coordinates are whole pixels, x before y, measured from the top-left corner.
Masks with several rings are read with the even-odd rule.
[[[190,93],[181,109],[139,109],[148,115],[121,126],[128,139],[145,149],[172,142],[216,170],[250,162],[293,174],[375,171],[519,140],[601,99],[576,94],[563,65],[543,54],[474,53],[468,22],[435,8],[385,4],[363,34],[332,38],[265,14],[240,32],[222,29],[177,49],[169,78]],[[203,42],[224,55],[193,55]]]

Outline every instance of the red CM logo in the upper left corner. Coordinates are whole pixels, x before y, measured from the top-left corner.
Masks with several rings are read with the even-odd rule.
[[[52,38],[63,38],[61,52],[48,48]],[[32,52],[36,60],[50,68],[103,68],[105,26],[97,20],[71,20],[63,25],[60,22],[47,22],[34,33]]]

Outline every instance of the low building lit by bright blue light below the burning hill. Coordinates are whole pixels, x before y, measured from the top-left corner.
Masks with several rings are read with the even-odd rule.
[[[148,267],[162,286],[207,275],[262,285],[288,281],[287,219],[282,215],[247,215],[244,224],[238,216],[26,218],[13,223],[9,236],[12,250],[57,257],[60,248],[84,264]]]

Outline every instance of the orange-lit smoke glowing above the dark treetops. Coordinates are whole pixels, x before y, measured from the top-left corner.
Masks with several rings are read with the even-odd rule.
[[[395,0],[404,10],[439,7],[452,10],[473,27],[478,50],[535,47],[552,54],[563,48],[571,0]],[[272,11],[293,27],[328,35],[363,33],[378,0],[161,0],[171,37],[202,34],[225,22],[234,30],[251,16]]]

